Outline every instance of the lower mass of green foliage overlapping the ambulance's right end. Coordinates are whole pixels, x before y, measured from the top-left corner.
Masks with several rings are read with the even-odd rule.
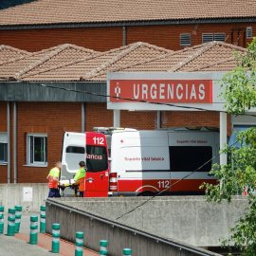
[[[234,245],[247,256],[256,255],[256,128],[249,128],[237,136],[243,148],[226,145],[222,153],[229,155],[227,165],[215,165],[211,174],[218,176],[218,184],[204,183],[207,200],[229,202],[235,194],[242,194],[247,188],[248,208],[244,215],[231,228],[231,236],[222,242],[223,247]]]

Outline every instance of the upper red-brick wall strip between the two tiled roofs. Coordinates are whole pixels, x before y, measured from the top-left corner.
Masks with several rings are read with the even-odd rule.
[[[184,48],[180,46],[179,37],[182,33],[191,33],[192,46],[202,44],[202,33],[226,33],[226,43],[244,46],[244,34],[238,36],[231,29],[245,29],[245,46],[251,42],[247,39],[247,27],[252,27],[252,35],[256,29],[255,23],[210,23],[187,25],[152,25],[128,26],[127,45],[145,42],[172,50]],[[239,40],[238,40],[239,37]],[[0,30],[0,45],[13,46],[27,51],[39,51],[52,46],[72,44],[98,51],[105,51],[123,46],[123,27],[74,27],[74,28],[42,28]]]

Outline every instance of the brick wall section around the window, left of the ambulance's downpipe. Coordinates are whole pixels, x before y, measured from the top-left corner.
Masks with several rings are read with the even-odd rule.
[[[2,104],[3,108],[7,106],[7,102],[1,102]],[[17,102],[16,104],[18,183],[44,183],[49,169],[53,167],[55,161],[61,159],[64,131],[82,131],[81,103]],[[13,183],[13,104],[10,107],[10,114],[11,183]],[[1,111],[0,119],[7,122],[7,112]],[[7,125],[0,126],[0,129],[0,132],[6,132]],[[47,168],[27,166],[27,133],[47,134]],[[7,166],[0,166],[0,172],[0,183],[7,183]]]

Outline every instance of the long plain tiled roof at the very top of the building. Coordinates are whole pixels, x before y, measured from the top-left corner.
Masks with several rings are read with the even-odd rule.
[[[0,26],[250,18],[255,0],[38,0],[0,11]]]

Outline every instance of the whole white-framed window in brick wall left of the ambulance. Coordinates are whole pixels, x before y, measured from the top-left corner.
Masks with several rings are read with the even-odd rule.
[[[45,134],[27,135],[27,164],[47,164],[47,136]]]

